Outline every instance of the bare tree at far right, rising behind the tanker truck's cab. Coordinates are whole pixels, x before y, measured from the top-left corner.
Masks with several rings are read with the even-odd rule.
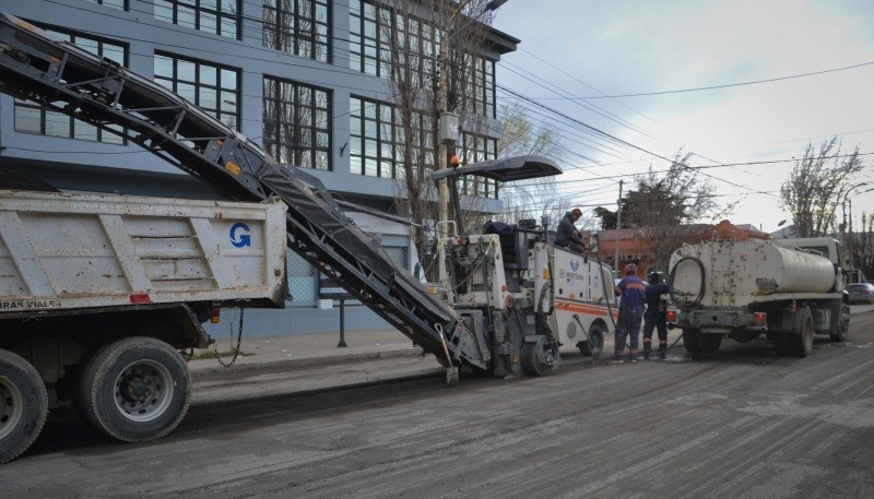
[[[781,205],[792,215],[800,237],[825,235],[836,227],[835,212],[864,169],[858,145],[848,155],[840,148],[837,136],[823,142],[818,152],[807,144],[780,188]]]

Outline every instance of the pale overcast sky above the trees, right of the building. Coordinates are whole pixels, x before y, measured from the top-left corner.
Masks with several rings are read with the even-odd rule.
[[[498,63],[498,104],[518,93],[560,131],[560,189],[578,204],[615,210],[619,178],[627,189],[684,147],[696,167],[780,162],[702,170],[718,201],[741,201],[728,218],[772,231],[790,218],[791,159],[837,135],[872,177],[852,191],[853,227],[874,212],[874,192],[859,194],[874,187],[873,0],[509,0],[494,27],[521,39]]]

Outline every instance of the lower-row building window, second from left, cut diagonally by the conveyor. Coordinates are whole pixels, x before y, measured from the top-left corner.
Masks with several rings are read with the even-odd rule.
[[[155,54],[155,82],[231,128],[239,122],[239,71]]]

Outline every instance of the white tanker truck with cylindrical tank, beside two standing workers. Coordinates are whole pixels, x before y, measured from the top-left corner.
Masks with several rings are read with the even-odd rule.
[[[814,334],[842,342],[850,309],[840,243],[829,237],[710,240],[671,256],[669,326],[689,353],[714,353],[723,338],[765,335],[778,355],[806,357]]]

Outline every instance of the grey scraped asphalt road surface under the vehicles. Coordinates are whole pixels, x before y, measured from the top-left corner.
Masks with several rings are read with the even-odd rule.
[[[688,361],[672,353],[621,366],[571,357],[555,376],[462,376],[458,388],[432,371],[304,394],[244,390],[199,402],[145,444],[52,421],[0,467],[0,495],[874,497],[874,313],[854,316],[846,344],[817,337],[805,359],[775,357],[765,341]],[[383,360],[400,361],[415,360]]]

